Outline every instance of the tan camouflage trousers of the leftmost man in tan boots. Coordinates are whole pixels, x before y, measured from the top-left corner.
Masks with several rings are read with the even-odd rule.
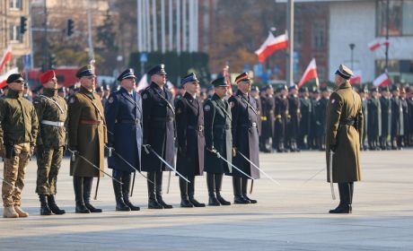
[[[2,186],[2,198],[4,207],[22,204],[22,189],[24,186],[24,174],[29,163],[31,149],[30,143],[14,145],[14,156],[4,159],[4,181]],[[13,186],[19,189],[14,189]]]

